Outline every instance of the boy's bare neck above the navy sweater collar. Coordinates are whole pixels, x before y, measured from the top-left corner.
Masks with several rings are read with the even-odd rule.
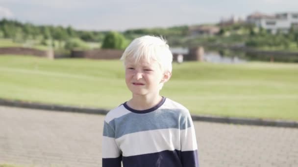
[[[135,109],[135,110],[146,110],[149,108],[154,107],[160,101],[162,100],[162,97],[158,94],[155,96],[132,96],[132,99],[130,99],[126,104]]]

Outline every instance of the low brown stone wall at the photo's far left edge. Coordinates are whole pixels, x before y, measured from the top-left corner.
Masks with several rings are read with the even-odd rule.
[[[0,47],[0,55],[33,55],[53,59],[52,50],[44,51],[26,47]]]

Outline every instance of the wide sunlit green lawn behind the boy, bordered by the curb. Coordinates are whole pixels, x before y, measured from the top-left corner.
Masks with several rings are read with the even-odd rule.
[[[298,120],[298,64],[174,63],[161,94],[192,114]],[[0,55],[0,98],[114,108],[130,98],[118,60]]]

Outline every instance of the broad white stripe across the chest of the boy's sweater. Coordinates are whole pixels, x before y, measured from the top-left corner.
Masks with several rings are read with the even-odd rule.
[[[126,134],[116,142],[123,156],[133,156],[160,152],[164,150],[180,150],[179,129],[156,129]]]

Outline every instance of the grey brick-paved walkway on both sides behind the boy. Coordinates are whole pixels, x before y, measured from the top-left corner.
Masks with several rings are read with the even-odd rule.
[[[0,106],[0,164],[101,167],[104,116]],[[201,167],[297,167],[298,129],[194,122]]]

